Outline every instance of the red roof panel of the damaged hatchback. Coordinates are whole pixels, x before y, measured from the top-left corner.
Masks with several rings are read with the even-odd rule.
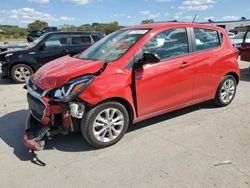
[[[124,29],[160,29],[163,27],[200,27],[204,29],[215,29],[215,30],[224,30],[218,26],[212,26],[209,24],[198,24],[198,23],[189,23],[189,22],[160,22],[160,23],[150,23],[150,24],[142,24],[127,27]]]

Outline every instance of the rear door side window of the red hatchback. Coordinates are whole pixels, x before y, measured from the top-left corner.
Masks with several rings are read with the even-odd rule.
[[[194,28],[196,51],[220,46],[219,34],[215,30]]]

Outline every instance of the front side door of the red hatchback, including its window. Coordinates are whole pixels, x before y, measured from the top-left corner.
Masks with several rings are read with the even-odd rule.
[[[160,62],[135,69],[139,117],[150,116],[192,100],[194,55],[189,54],[185,28],[166,30],[142,48],[155,53]]]

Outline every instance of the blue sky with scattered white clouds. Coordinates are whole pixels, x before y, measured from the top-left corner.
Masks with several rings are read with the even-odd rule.
[[[250,19],[250,0],[0,0],[0,24],[26,27],[39,19],[50,26],[142,20],[196,21]]]

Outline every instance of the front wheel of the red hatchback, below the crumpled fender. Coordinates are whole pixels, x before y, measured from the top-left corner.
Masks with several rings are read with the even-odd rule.
[[[81,121],[86,141],[95,148],[117,143],[127,132],[129,115],[118,102],[105,102],[89,110]]]

